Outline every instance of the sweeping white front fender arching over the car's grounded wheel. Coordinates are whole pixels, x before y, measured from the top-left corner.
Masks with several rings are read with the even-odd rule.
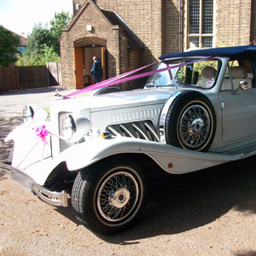
[[[229,156],[201,153],[164,143],[129,137],[112,137],[109,139],[96,138],[89,142],[73,145],[61,153],[60,161],[67,163],[69,171],[75,171],[116,154],[147,154],[163,170],[173,174],[194,172],[242,158],[242,154]]]

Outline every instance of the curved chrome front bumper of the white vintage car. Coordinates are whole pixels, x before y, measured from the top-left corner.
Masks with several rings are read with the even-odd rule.
[[[0,171],[7,172],[11,175],[12,179],[17,183],[20,183],[30,192],[34,192],[38,197],[55,207],[67,207],[67,192],[52,192],[49,189],[36,183],[31,177],[27,176],[26,173],[20,172],[13,166],[9,166],[0,162]]]

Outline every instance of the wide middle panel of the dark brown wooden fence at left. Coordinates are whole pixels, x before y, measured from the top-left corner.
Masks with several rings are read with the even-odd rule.
[[[38,88],[49,86],[45,66],[18,67],[20,88]]]

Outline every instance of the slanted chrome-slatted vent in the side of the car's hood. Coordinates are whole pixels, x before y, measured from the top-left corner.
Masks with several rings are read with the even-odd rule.
[[[113,136],[135,137],[147,141],[160,142],[157,131],[155,131],[151,121],[109,125],[107,131],[111,132]]]

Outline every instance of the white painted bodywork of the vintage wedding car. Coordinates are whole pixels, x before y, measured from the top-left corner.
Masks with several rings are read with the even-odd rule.
[[[189,53],[186,54],[189,55]],[[192,56],[189,57],[189,61],[203,57]],[[12,166],[43,186],[55,167],[63,162],[67,164],[67,171],[79,172],[110,156],[146,154],[164,171],[181,174],[255,154],[256,101],[254,99],[256,88],[238,90],[233,95],[230,94],[232,92],[230,90],[222,91],[221,87],[230,58],[218,56],[214,58],[218,59],[216,62],[218,62],[219,69],[214,78],[217,80],[211,80],[212,88],[193,84],[192,79],[190,79],[191,86],[185,83],[184,86],[177,86],[179,82],[177,79],[175,86],[167,84],[166,87],[122,91],[109,95],[59,98],[51,102],[50,122],[40,123],[37,120],[37,125],[33,127],[20,125],[6,138],[6,141],[15,141]],[[199,76],[199,73],[197,75]],[[122,137],[125,131],[122,131],[123,135],[117,134],[108,139],[100,137],[101,132],[110,131],[110,128],[119,129],[119,125],[132,126],[133,123],[137,123],[141,125],[139,128],[142,128],[144,124],[140,123],[143,122],[149,122],[156,136],[160,137],[161,114],[164,119],[167,115],[163,109],[166,111],[171,109],[172,102],[177,95],[182,95],[188,90],[193,93],[197,92],[202,98],[207,99],[206,102],[212,104],[216,131],[212,132],[214,137],[207,148],[207,153],[183,149],[185,147],[177,148],[166,144],[165,140],[157,139],[156,142],[154,137],[153,139],[150,137],[151,141],[148,137],[143,137],[143,139]],[[168,102],[171,105],[168,105]],[[73,118],[76,131],[67,142],[61,138],[63,130],[61,119],[68,114]],[[200,118],[195,119],[198,121]],[[39,124],[46,125],[46,129],[51,133],[48,136],[48,139],[50,138],[48,145],[36,136]],[[177,126],[173,130],[178,130]]]

